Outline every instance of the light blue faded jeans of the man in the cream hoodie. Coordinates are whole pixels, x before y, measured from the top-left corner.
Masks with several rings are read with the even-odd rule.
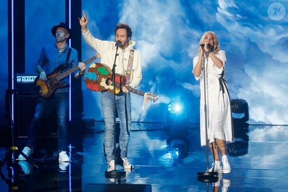
[[[114,159],[114,112],[113,94],[110,92],[101,93],[101,105],[104,116],[105,132],[104,146],[107,162]],[[131,98],[130,93],[116,95],[116,108],[120,121],[119,147],[120,157],[127,157],[128,142],[130,138],[131,125]]]

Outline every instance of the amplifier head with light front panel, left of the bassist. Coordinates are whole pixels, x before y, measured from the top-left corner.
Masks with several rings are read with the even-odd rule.
[[[37,74],[15,74],[14,90],[17,94],[36,95],[34,80]]]

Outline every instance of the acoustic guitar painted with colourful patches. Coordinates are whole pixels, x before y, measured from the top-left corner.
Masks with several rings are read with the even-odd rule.
[[[94,92],[102,92],[107,90],[110,93],[114,93],[115,87],[115,94],[119,94],[121,92],[121,87],[126,85],[126,78],[125,76],[121,76],[119,74],[115,75],[115,81],[113,82],[112,79],[112,71],[111,69],[103,64],[103,63],[92,63],[88,70],[85,77],[85,84],[89,90]],[[157,101],[158,97],[156,94],[152,93],[144,93],[138,91],[136,89],[131,88],[130,86],[125,86],[129,92],[134,94],[144,96],[146,100],[150,101]]]

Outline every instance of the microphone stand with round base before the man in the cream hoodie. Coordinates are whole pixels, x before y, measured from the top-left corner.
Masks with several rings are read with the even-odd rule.
[[[114,64],[113,64],[113,68],[112,68],[112,85],[113,85],[113,113],[114,113],[114,170],[112,171],[105,171],[105,177],[106,178],[120,178],[120,177],[124,177],[126,175],[126,172],[124,170],[117,170],[116,167],[116,80],[115,80],[115,68],[116,68],[116,57],[119,55],[118,52],[118,47],[119,47],[120,43],[116,42],[115,46],[116,46],[116,53],[115,53],[115,59],[114,59]],[[121,89],[121,86],[120,86]]]

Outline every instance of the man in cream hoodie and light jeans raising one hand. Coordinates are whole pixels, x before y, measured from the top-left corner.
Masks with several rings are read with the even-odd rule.
[[[101,55],[101,63],[105,64],[107,68],[99,68],[97,72],[86,75],[86,81],[95,77],[94,82],[101,80],[101,86],[107,87],[107,90],[101,91],[101,106],[104,116],[105,133],[104,133],[104,147],[106,153],[106,159],[108,163],[107,171],[115,170],[114,161],[114,96],[108,87],[117,83],[116,79],[120,81],[119,90],[116,91],[116,108],[118,111],[118,117],[120,120],[120,157],[123,160],[124,169],[134,169],[127,159],[128,142],[130,138],[130,125],[131,125],[131,98],[130,88],[136,88],[142,80],[142,67],[141,57],[137,50],[134,49],[135,42],[131,40],[132,29],[126,23],[119,23],[115,27],[115,42],[103,41],[94,38],[87,28],[89,18],[83,11],[83,16],[79,19],[82,35],[86,43],[97,51]],[[119,50],[118,50],[119,48]],[[118,56],[116,57],[116,50]],[[115,60],[116,58],[116,60]],[[109,74],[113,68],[113,64],[116,64],[115,73],[118,75],[115,78],[115,84],[112,79],[104,79],[100,77],[100,73]],[[93,64],[89,67],[93,67]],[[103,75],[103,74],[102,74]],[[124,77],[124,78],[121,78]],[[111,84],[109,84],[110,82]],[[107,84],[108,83],[108,84]],[[119,82],[118,82],[119,83]],[[105,85],[104,85],[105,84]],[[116,86],[115,86],[116,87]],[[90,88],[89,88],[90,89]],[[95,89],[94,91],[97,91]]]

